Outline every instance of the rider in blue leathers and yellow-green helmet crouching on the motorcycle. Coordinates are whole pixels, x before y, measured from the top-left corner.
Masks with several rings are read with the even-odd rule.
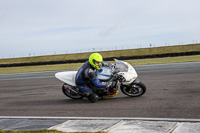
[[[91,102],[98,100],[98,95],[92,90],[105,89],[111,86],[111,82],[100,82],[97,78],[96,71],[100,70],[101,66],[111,66],[112,64],[103,61],[99,53],[93,53],[79,69],[76,75],[76,85],[79,91],[84,94]]]

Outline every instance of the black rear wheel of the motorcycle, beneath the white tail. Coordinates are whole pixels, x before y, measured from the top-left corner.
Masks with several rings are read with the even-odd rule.
[[[68,84],[63,84],[62,86],[62,91],[63,93],[72,99],[82,99],[83,96],[81,96],[76,88],[74,86],[68,85]]]

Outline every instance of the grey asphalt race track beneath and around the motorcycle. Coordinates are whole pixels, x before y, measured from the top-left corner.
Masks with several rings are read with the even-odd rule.
[[[147,92],[90,103],[67,98],[56,71],[0,75],[0,116],[200,119],[200,62],[135,66]]]

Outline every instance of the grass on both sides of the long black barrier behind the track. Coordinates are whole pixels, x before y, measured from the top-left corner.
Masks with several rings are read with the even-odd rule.
[[[115,51],[104,51],[99,53],[101,53],[104,58],[106,57],[117,58],[120,56],[138,56],[138,55],[152,55],[152,54],[176,53],[176,52],[179,53],[179,52],[190,52],[190,51],[200,51],[200,44],[129,49],[129,50],[115,50]],[[79,53],[79,54],[0,59],[0,64],[87,59],[90,54],[91,53]],[[131,65],[163,64],[163,63],[193,62],[193,61],[200,61],[200,55],[127,60],[127,62],[129,62]],[[83,63],[68,63],[68,64],[56,64],[56,65],[23,66],[23,67],[5,67],[5,68],[0,67],[0,74],[71,70],[71,69],[79,69],[82,64]]]

